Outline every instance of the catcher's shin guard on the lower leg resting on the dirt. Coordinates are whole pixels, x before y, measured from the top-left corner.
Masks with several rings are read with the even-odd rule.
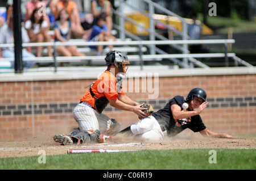
[[[100,131],[72,131],[69,136],[74,144],[82,145],[84,142],[98,142],[100,140]]]

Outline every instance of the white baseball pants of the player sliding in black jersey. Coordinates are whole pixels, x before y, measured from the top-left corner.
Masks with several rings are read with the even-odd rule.
[[[145,117],[138,123],[132,124],[130,128],[141,141],[159,141],[166,135],[154,116]]]

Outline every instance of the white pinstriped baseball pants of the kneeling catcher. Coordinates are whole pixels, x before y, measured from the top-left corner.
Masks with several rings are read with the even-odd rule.
[[[104,133],[109,129],[111,123],[110,117],[103,113],[98,113],[87,102],[77,104],[73,110],[73,117],[77,121],[77,124],[79,124],[81,131],[98,129],[101,133]]]

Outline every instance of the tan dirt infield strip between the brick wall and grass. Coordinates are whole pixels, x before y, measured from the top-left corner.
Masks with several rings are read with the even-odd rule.
[[[207,138],[195,133],[181,133],[159,142],[136,142],[120,140],[104,144],[84,144],[60,146],[51,137],[47,140],[2,141],[0,158],[26,157],[39,155],[40,150],[46,155],[67,154],[68,149],[110,149],[110,150],[169,150],[169,149],[256,149],[256,137],[239,136],[234,139]]]

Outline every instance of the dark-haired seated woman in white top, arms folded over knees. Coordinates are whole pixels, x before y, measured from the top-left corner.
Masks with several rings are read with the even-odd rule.
[[[39,9],[35,9],[32,12],[31,18],[25,23],[28,36],[30,37],[30,43],[51,42],[51,36],[48,34],[49,26],[46,20],[43,19],[43,15],[38,12]],[[37,57],[42,56],[43,47],[36,47]],[[52,47],[48,46],[48,56],[52,57]]]

